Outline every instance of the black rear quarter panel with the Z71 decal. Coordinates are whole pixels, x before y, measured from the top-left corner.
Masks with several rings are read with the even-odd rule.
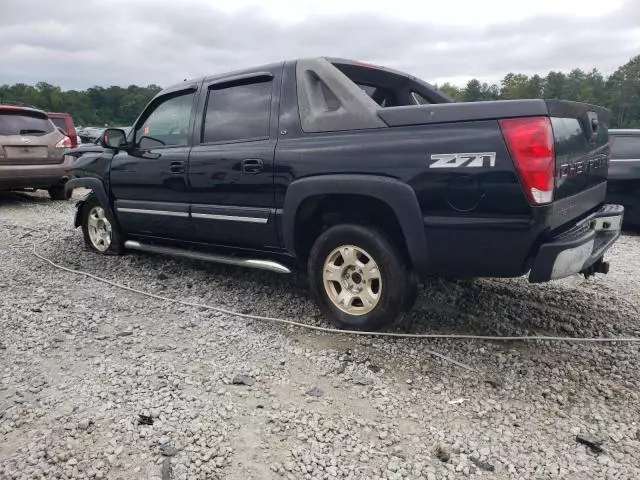
[[[438,159],[442,165],[443,155],[465,153],[490,153],[495,161],[456,160],[434,167]],[[281,138],[276,149],[276,208],[284,205],[291,182],[327,174],[382,175],[411,186],[422,214],[415,221],[426,231],[430,273],[524,273],[539,231],[533,227],[532,210],[497,121]]]

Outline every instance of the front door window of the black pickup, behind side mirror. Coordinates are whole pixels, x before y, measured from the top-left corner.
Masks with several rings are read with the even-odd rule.
[[[193,92],[167,97],[156,104],[136,129],[139,148],[187,145]]]

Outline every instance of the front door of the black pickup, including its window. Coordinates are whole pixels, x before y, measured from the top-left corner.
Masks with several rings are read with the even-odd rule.
[[[129,234],[189,239],[187,162],[195,89],[156,99],[111,162],[115,214]]]

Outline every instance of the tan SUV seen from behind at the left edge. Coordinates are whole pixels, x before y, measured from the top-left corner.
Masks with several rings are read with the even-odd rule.
[[[46,113],[0,105],[0,190],[42,188],[54,200],[69,198],[64,184],[71,177],[69,137]]]

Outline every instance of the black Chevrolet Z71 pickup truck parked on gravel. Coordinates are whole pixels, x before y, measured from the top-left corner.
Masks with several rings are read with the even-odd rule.
[[[126,249],[308,275],[341,327],[381,328],[422,275],[606,273],[607,110],[454,103],[402,72],[313,58],[185,81],[74,165],[76,226]]]

